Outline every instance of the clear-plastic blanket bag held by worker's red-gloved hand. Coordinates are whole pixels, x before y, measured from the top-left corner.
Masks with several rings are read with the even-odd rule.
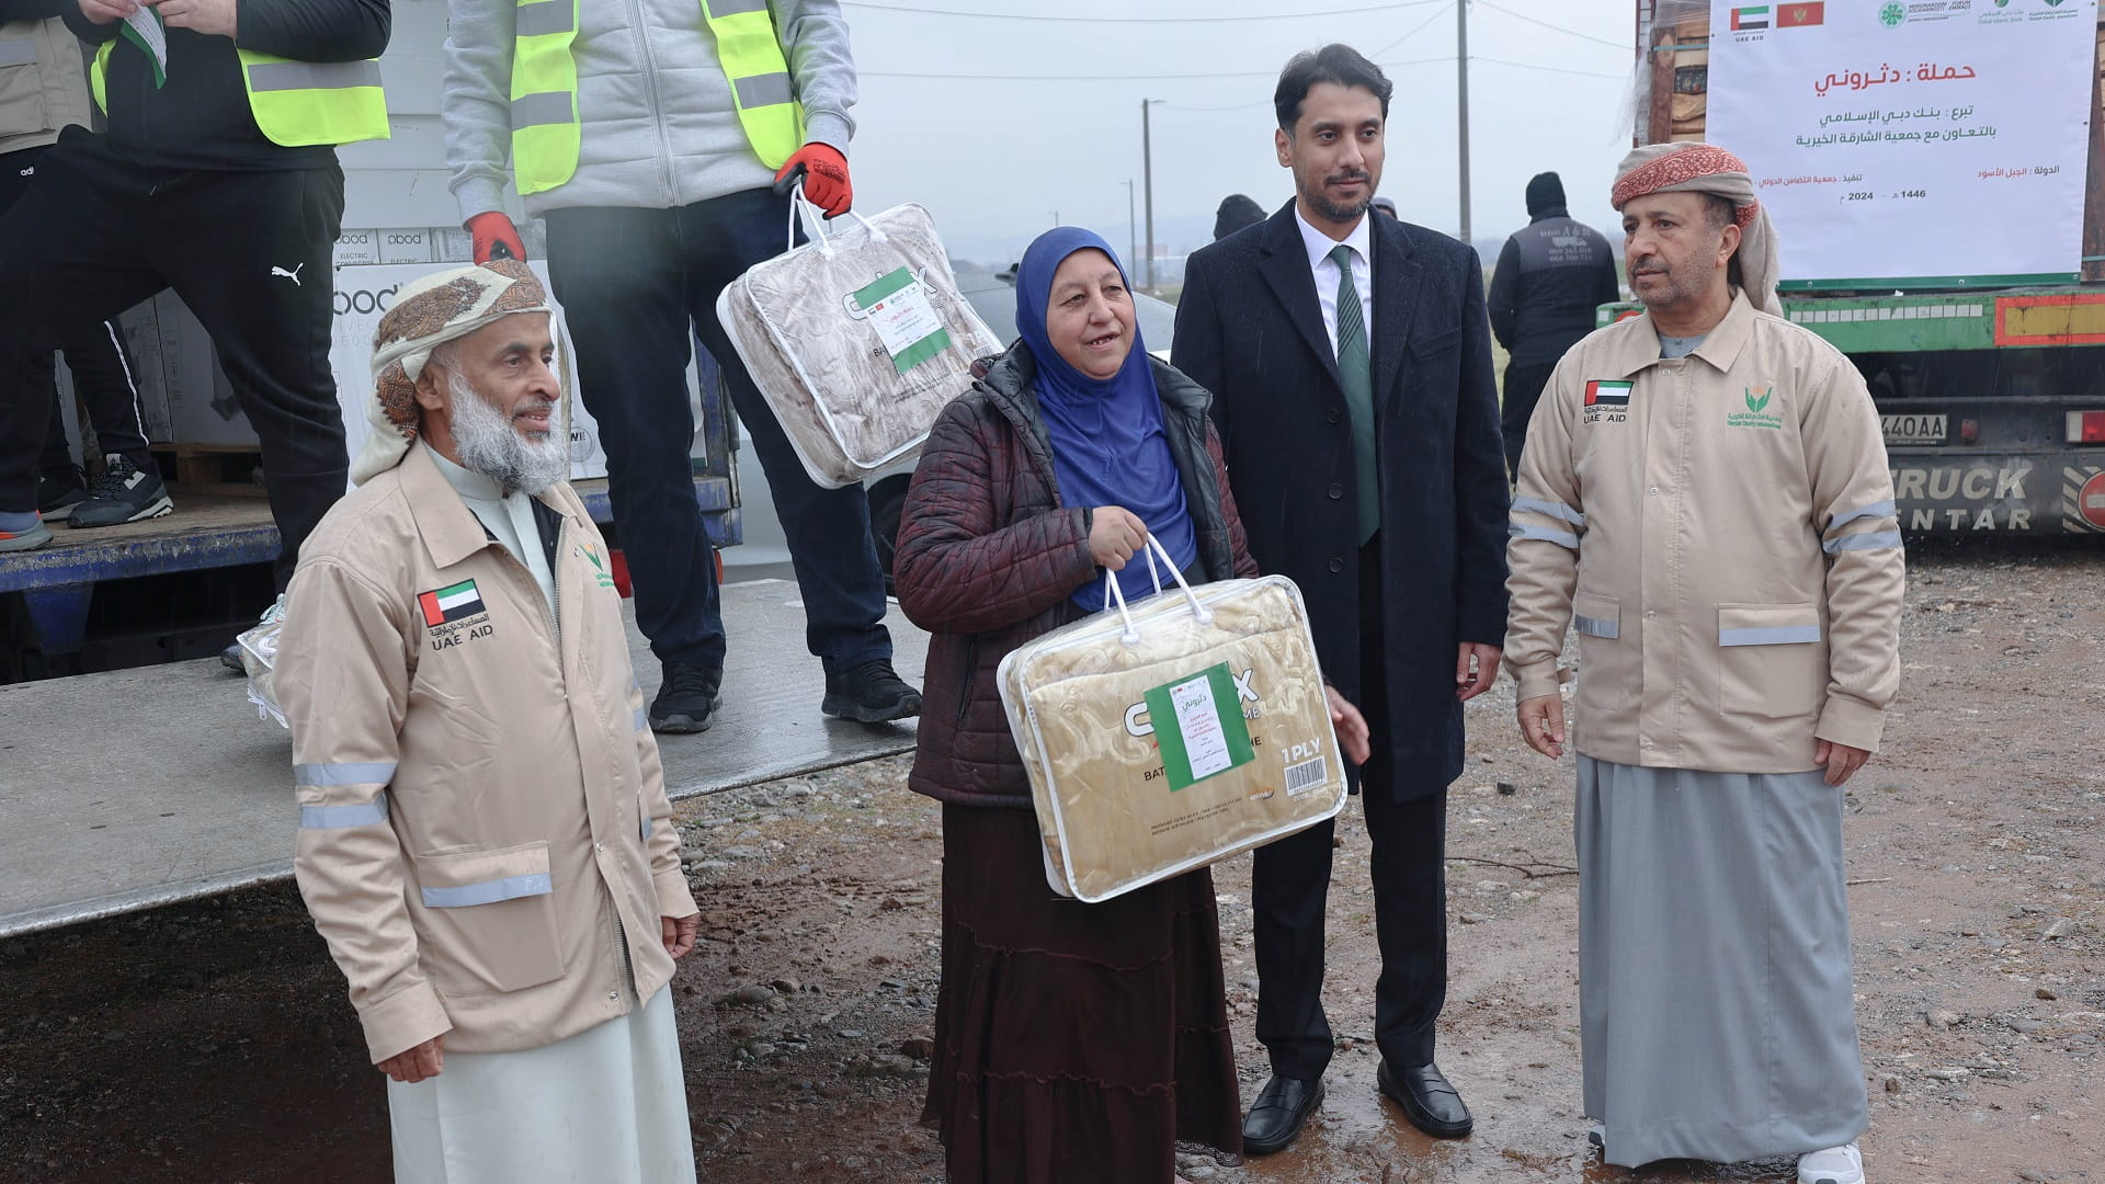
[[[973,360],[1002,343],[958,293],[926,209],[827,225],[802,190],[789,206],[789,251],[733,280],[716,318],[804,472],[840,489],[920,455]]]

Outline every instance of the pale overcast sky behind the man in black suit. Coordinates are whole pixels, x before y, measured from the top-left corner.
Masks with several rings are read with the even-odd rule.
[[[1124,249],[1126,179],[1141,188],[1141,99],[1166,99],[1154,107],[1158,242],[1179,253],[1202,246],[1227,194],[1278,209],[1292,177],[1271,150],[1271,86],[1295,51],[1332,40],[1370,55],[1396,82],[1381,192],[1408,221],[1459,228],[1455,0],[842,0],[842,8],[863,91],[853,112],[857,206],[920,202],[958,257],[1013,259],[1055,211]],[[1629,150],[1633,8],[1633,0],[1469,2],[1478,242],[1526,223],[1522,190],[1545,169],[1564,175],[1575,217],[1612,228],[1606,194]]]

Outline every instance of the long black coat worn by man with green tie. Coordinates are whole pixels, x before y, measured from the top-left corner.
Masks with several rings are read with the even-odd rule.
[[[1476,251],[1385,217],[1370,251],[1389,718],[1368,723],[1412,798],[1461,775],[1457,645],[1505,643],[1505,451]],[[1170,362],[1215,394],[1250,554],[1301,586],[1324,674],[1362,702],[1351,423],[1292,202],[1191,255]]]

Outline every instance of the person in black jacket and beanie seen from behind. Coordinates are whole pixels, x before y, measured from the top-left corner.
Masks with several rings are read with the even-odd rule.
[[[1558,358],[1593,331],[1593,310],[1623,299],[1608,238],[1564,211],[1564,179],[1528,181],[1528,225],[1505,240],[1490,274],[1490,331],[1511,354],[1505,362],[1505,463],[1520,472],[1528,417],[1543,398]]]

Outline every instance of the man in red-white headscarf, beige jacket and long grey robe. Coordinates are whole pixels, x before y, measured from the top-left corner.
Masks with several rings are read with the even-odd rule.
[[[1783,320],[1747,166],[1619,171],[1644,316],[1549,377],[1511,508],[1520,729],[1579,632],[1579,1022],[1608,1163],[1861,1184],[1842,790],[1899,687],[1901,531],[1857,367]]]

